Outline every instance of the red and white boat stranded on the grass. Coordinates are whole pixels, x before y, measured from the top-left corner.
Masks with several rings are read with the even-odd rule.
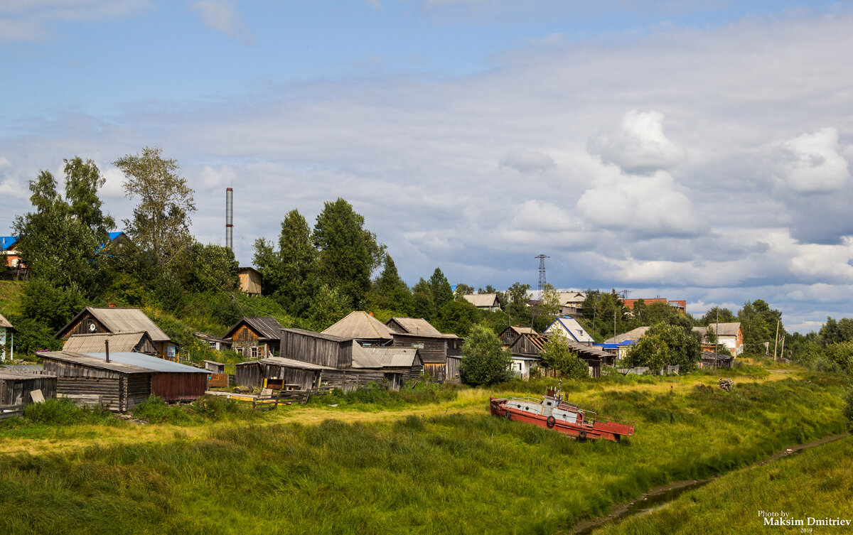
[[[566,403],[563,395],[554,390],[549,390],[541,400],[489,398],[489,403],[493,416],[554,429],[579,440],[606,439],[618,442],[623,436],[634,434],[634,422],[598,417],[593,411],[584,411],[577,405]]]

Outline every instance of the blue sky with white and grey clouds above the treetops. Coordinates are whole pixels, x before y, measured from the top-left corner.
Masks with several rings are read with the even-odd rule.
[[[850,3],[0,0],[0,227],[26,182],[144,146],[194,233],[251,262],[347,198],[414,284],[763,298],[806,331],[853,298]]]

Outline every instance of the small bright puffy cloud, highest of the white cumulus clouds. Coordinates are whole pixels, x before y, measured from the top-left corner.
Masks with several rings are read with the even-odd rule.
[[[631,110],[618,129],[599,135],[590,148],[629,173],[670,169],[687,158],[684,149],[664,135],[664,114]]]

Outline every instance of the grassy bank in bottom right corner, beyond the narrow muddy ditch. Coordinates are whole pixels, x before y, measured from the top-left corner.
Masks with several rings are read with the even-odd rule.
[[[809,526],[815,519],[853,521],[853,438],[817,446],[764,466],[724,475],[647,515],[595,535],[680,533],[850,533],[853,526]],[[760,511],[785,512],[804,526],[765,526]]]

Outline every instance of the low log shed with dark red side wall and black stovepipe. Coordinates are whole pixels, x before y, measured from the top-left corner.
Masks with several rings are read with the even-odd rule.
[[[39,353],[44,371],[56,377],[56,396],[111,411],[132,411],[156,395],[192,401],[205,394],[208,371],[141,353]]]

